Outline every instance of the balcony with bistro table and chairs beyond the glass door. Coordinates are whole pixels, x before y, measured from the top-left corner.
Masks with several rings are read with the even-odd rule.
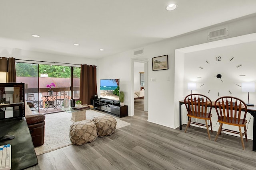
[[[25,100],[33,101],[39,113],[60,112],[65,98],[78,100],[80,97],[80,78],[73,78],[73,87],[70,78],[17,77],[17,82],[25,83]],[[51,83],[56,86],[47,87]],[[53,91],[52,96],[49,90]]]

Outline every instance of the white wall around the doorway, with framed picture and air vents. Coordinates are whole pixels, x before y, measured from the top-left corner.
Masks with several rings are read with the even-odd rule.
[[[228,36],[208,41],[207,36],[209,30],[212,31],[213,29],[218,29],[219,27],[226,25],[229,27]],[[182,64],[177,62],[176,64],[174,58],[175,49],[208,43],[220,39],[228,39],[230,37],[246,35],[254,32],[256,32],[256,17],[248,16],[248,18],[220,23],[212,27],[144,46],[144,55],[139,58],[148,60],[148,121],[172,128],[179,126],[178,101],[184,99],[184,78],[176,78],[175,75],[177,72],[177,74],[183,74],[184,63]],[[152,71],[152,58],[162,55],[168,55],[169,69]],[[130,93],[131,87],[129,79],[131,74],[133,75],[133,71],[130,71],[130,60],[132,58],[134,58],[133,51],[127,51],[125,53],[108,57],[108,59],[100,59],[99,66],[101,70],[99,71],[99,77],[109,78],[114,75],[121,79],[124,78],[127,83],[126,92]],[[182,57],[180,60],[184,61]],[[127,70],[116,72],[116,70],[118,70],[117,68],[120,67]],[[150,81],[151,78],[155,78],[156,80]],[[178,81],[180,84],[174,84],[175,81]],[[174,86],[176,87],[175,91]],[[132,98],[130,99],[132,100]],[[129,102],[131,103],[131,101]],[[128,108],[130,108],[129,102],[126,101]],[[129,109],[128,112],[130,112]]]

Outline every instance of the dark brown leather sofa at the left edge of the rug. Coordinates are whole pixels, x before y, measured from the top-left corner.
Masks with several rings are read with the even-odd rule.
[[[34,102],[28,101],[28,106],[32,110],[32,115],[26,115],[26,121],[32,137],[34,147],[44,145],[44,127],[45,127],[45,115],[39,114],[34,107]]]

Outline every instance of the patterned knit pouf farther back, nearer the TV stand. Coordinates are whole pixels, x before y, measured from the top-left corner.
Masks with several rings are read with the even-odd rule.
[[[109,115],[103,115],[92,119],[98,129],[98,137],[112,135],[116,131],[116,119]]]

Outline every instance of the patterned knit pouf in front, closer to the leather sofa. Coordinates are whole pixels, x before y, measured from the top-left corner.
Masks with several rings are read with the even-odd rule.
[[[69,137],[74,145],[83,145],[97,139],[97,127],[91,120],[77,121],[70,125]]]

